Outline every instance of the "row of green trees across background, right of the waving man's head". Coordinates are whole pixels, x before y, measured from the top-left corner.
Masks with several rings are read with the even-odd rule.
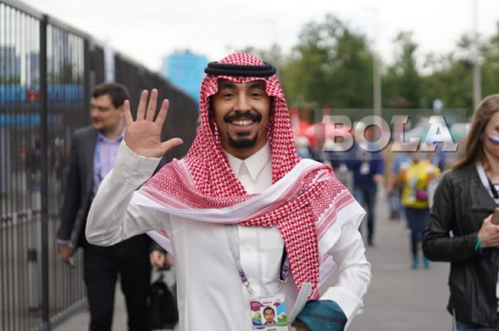
[[[383,107],[431,108],[440,99],[447,108],[473,112],[475,44],[464,35],[446,54],[429,53],[417,63],[418,44],[410,31],[394,38],[393,63],[382,71]],[[335,16],[307,23],[289,54],[274,44],[268,50],[246,48],[278,68],[289,105],[335,108],[373,106],[373,52],[364,33]],[[499,22],[494,36],[478,45],[483,95],[499,92]]]

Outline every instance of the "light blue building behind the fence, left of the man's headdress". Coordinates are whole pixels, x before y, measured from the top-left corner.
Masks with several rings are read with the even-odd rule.
[[[163,58],[161,73],[176,88],[199,103],[201,80],[205,75],[206,56],[190,51],[175,52]]]

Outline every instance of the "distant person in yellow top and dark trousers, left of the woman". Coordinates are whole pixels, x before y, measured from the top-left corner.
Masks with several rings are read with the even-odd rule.
[[[401,167],[398,182],[402,186],[402,204],[406,214],[407,227],[411,231],[411,268],[419,267],[418,251],[430,214],[428,183],[438,177],[440,169],[431,164],[426,154],[420,150],[408,152],[410,164]],[[430,268],[430,261],[423,254],[425,268]]]

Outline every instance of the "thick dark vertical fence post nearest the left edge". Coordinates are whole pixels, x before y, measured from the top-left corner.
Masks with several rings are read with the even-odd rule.
[[[40,141],[41,141],[41,318],[43,330],[51,330],[48,298],[48,131],[47,131],[47,24],[40,21]]]

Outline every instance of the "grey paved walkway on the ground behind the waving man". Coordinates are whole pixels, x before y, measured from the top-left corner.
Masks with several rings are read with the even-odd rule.
[[[410,268],[409,236],[405,221],[387,219],[386,199],[379,194],[375,246],[368,248],[373,281],[365,310],[349,331],[451,330],[445,310],[448,299],[447,263],[433,263],[429,270]],[[113,331],[126,329],[123,297],[117,290]],[[88,312],[82,309],[54,331],[87,330]]]

